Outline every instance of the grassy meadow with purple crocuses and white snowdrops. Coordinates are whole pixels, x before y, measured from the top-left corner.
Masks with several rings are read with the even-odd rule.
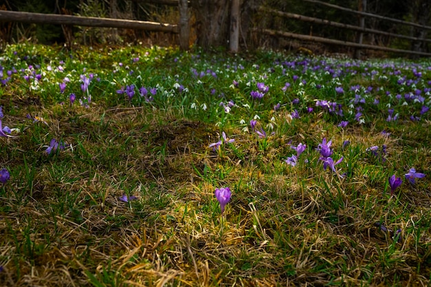
[[[430,284],[429,59],[19,44],[0,81],[3,285]]]

